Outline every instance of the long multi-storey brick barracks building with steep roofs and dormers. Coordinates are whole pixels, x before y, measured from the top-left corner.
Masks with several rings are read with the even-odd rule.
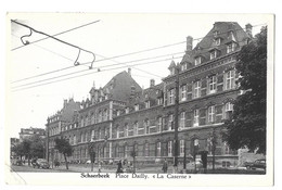
[[[238,23],[216,22],[194,48],[193,38],[187,37],[182,61],[168,65],[170,75],[163,83],[151,80],[150,88],[141,89],[129,71],[103,88],[93,86],[91,98],[81,102],[76,118],[56,130],[74,147],[69,159],[89,160],[88,145],[92,142],[99,160],[131,160],[134,152],[138,162],[164,157],[172,162],[178,126],[180,162],[184,153],[192,157],[195,152],[207,151],[210,166],[214,149],[217,166],[238,165],[236,151],[222,140],[221,125],[240,93],[236,54],[251,39],[252,25],[244,31]]]

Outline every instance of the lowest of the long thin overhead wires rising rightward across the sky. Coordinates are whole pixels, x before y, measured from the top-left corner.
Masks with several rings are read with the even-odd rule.
[[[175,58],[175,59],[179,59],[179,58],[182,58],[182,56],[178,56],[178,58]],[[138,65],[144,65],[144,64],[150,64],[150,63],[157,63],[157,62],[169,61],[169,60],[171,60],[171,59],[165,59],[165,60],[158,60],[158,61],[153,61],[153,62],[132,64],[130,66],[138,66]],[[40,84],[40,85],[31,86],[31,87],[15,89],[12,92],[16,92],[16,91],[25,90],[25,89],[30,89],[30,88],[36,88],[36,87],[40,87],[40,86],[44,86],[44,85],[49,85],[49,84],[59,83],[59,81],[64,81],[64,80],[68,80],[68,79],[73,79],[73,78],[77,78],[77,77],[81,77],[81,76],[91,75],[91,74],[94,74],[94,73],[107,72],[107,71],[113,71],[113,69],[119,69],[119,68],[124,68],[124,67],[127,67],[127,66],[119,66],[119,67],[114,67],[114,68],[100,69],[100,71],[91,72],[91,73],[88,73],[88,74],[77,75],[77,76],[73,76],[73,77],[68,77],[68,78],[63,78],[63,79],[55,80],[55,81],[50,81],[50,83]]]

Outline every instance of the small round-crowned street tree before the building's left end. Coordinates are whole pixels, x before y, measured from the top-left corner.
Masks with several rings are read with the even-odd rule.
[[[55,139],[55,149],[64,155],[65,166],[66,166],[66,169],[68,169],[66,156],[70,156],[73,154],[73,148],[69,144],[69,141],[64,138],[61,138],[61,139],[56,138]]]

